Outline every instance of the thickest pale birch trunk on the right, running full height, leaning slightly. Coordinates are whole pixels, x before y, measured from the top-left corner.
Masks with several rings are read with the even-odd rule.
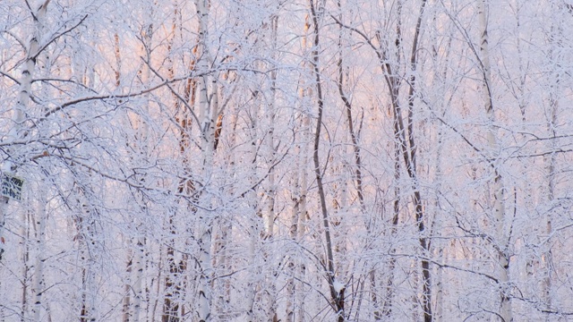
[[[489,129],[487,132],[487,140],[490,148],[492,159],[499,151],[499,144],[496,135],[496,128],[494,127],[495,112],[492,105],[492,74],[490,64],[490,52],[488,47],[488,34],[487,34],[487,0],[482,0],[479,3],[479,21],[482,29],[482,39],[480,46],[480,53],[482,59],[483,69],[483,103],[485,104],[485,112],[489,121]],[[505,211],[505,187],[503,179],[500,174],[500,169],[497,168],[498,163],[493,162],[496,167],[494,169],[495,177],[492,182],[493,186],[493,211],[495,217],[495,233],[498,250],[498,277],[500,283],[500,317],[505,322],[513,320],[511,311],[511,299],[509,295],[509,257],[507,254],[509,236],[505,230],[506,224],[506,211]]]

